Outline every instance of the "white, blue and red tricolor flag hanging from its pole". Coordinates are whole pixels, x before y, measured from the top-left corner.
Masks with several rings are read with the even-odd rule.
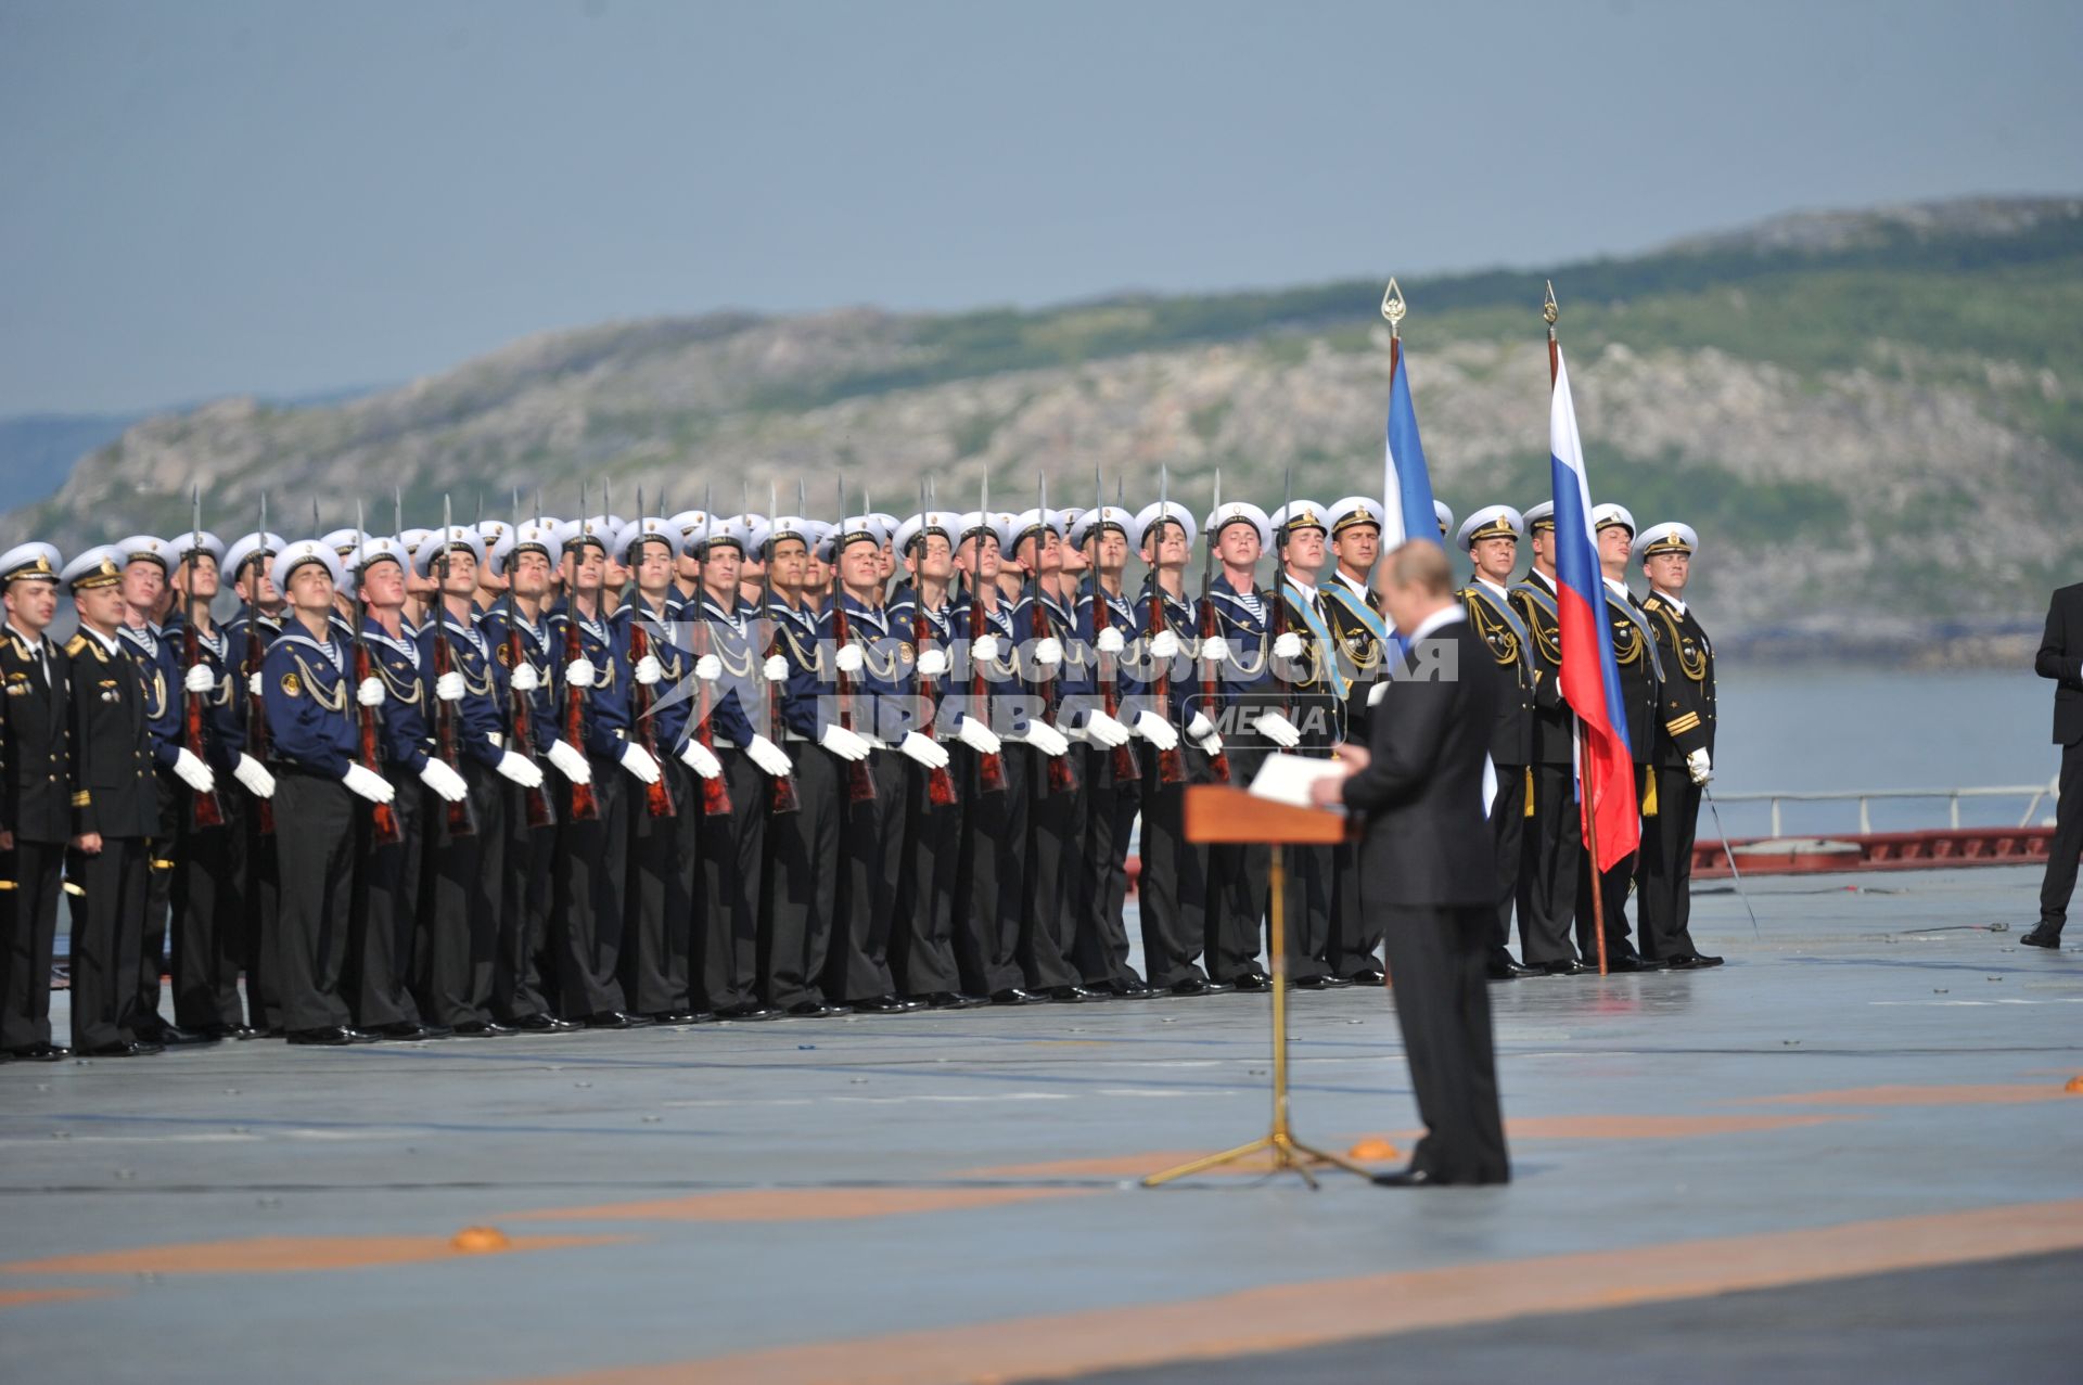
[[[1606,623],[1606,579],[1591,531],[1591,479],[1577,437],[1568,367],[1556,348],[1556,387],[1548,406],[1548,462],[1556,489],[1556,610],[1562,627],[1562,700],[1577,712],[1579,785],[1585,833],[1598,829],[1598,868],[1610,871],[1641,846],[1635,806],[1635,758],[1627,748],[1621,669]]]

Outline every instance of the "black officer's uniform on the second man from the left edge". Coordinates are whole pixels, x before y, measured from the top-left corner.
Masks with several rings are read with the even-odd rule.
[[[73,1048],[129,1043],[154,1023],[137,971],[146,927],[146,854],[160,833],[158,779],[137,662],[94,635],[65,646],[71,664],[73,831],[102,850],[65,854],[73,898]]]

